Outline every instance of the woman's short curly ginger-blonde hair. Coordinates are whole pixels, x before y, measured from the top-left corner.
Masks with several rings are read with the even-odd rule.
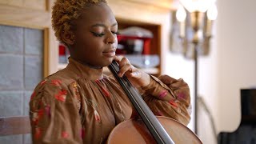
[[[54,2],[51,22],[58,41],[62,41],[62,31],[74,29],[74,20],[78,19],[86,6],[107,3],[106,0],[56,0]]]

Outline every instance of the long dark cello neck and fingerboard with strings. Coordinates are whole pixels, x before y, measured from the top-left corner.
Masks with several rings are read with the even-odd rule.
[[[142,96],[138,94],[138,90],[136,90],[134,86],[131,85],[126,76],[123,76],[122,78],[118,77],[118,63],[113,61],[110,66],[108,66],[108,68],[117,79],[120,86],[122,86],[122,89],[127,94],[130,102],[133,104],[135,110],[137,110],[138,114],[142,118],[142,121],[145,123],[146,127],[150,131],[150,134],[152,134],[156,142],[173,144],[174,141],[170,138],[169,134],[167,134],[166,130],[162,127],[160,122],[158,122],[158,119],[146,105],[146,102],[144,102]]]

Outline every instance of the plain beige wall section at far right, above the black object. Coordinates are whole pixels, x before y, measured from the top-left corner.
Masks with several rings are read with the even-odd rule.
[[[219,130],[238,127],[240,89],[256,86],[255,6],[254,0],[218,2]]]

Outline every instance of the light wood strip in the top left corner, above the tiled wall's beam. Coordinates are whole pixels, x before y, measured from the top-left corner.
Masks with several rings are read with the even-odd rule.
[[[47,10],[47,0],[1,0],[0,4],[33,10]]]

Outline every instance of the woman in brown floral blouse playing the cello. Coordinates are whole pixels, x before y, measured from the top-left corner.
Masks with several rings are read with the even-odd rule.
[[[134,108],[102,67],[113,60],[155,115],[190,122],[190,91],[182,79],[155,78],[115,55],[118,22],[105,0],[56,0],[52,26],[70,50],[65,69],[38,83],[30,100],[34,143],[103,143]]]

